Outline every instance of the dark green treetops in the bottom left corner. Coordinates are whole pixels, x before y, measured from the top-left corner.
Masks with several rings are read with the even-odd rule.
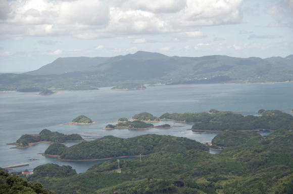
[[[42,187],[40,183],[28,182],[17,175],[8,174],[0,170],[0,193],[5,194],[53,194]]]

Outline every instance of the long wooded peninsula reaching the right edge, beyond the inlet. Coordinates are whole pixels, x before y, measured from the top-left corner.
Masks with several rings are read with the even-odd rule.
[[[260,116],[243,116],[230,111],[211,110],[210,113],[165,113],[160,119],[194,123],[193,130],[276,130],[293,129],[293,116],[278,110],[263,110]]]

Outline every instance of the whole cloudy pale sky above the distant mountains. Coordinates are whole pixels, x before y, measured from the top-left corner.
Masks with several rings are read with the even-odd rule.
[[[286,57],[293,0],[0,0],[0,72],[60,57]]]

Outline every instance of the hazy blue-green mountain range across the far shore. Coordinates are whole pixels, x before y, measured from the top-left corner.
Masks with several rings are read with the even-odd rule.
[[[82,90],[130,82],[189,84],[283,81],[293,81],[293,55],[266,59],[218,55],[168,57],[139,51],[109,58],[58,58],[35,71],[0,74],[0,90]]]

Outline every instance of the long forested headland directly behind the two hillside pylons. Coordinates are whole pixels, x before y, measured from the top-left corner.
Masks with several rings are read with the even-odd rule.
[[[60,147],[52,144],[47,148],[45,154],[59,153]],[[81,142],[69,148],[63,147],[62,149],[64,151],[60,158],[73,160],[145,155],[159,151],[180,153],[190,149],[209,150],[204,144],[195,140],[156,134],[140,135],[126,139],[105,136],[93,141]]]

